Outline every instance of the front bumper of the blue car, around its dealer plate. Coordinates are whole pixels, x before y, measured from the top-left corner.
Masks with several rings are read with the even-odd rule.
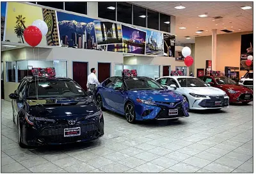
[[[177,109],[177,114],[169,115],[169,111]],[[143,115],[146,111],[151,111],[148,115]],[[149,104],[135,105],[136,120],[172,120],[182,117],[188,117],[188,103],[178,102],[173,107],[168,103],[156,102],[156,106]]]

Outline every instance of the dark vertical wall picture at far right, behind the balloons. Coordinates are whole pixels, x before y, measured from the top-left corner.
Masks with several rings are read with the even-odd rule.
[[[253,70],[253,59],[252,65],[249,67],[246,65],[248,56],[253,56],[253,34],[241,35],[240,70]]]

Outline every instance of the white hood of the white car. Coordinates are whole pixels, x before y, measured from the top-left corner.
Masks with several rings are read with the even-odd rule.
[[[199,95],[225,95],[225,91],[214,87],[184,87],[188,93],[195,93]]]

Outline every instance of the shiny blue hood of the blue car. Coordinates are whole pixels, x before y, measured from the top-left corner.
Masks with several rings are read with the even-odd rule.
[[[182,95],[171,90],[137,90],[129,91],[136,99],[152,100],[155,102],[179,102],[183,99]]]

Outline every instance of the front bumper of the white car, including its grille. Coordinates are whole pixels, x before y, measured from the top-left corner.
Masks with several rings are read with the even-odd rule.
[[[195,110],[221,109],[229,107],[229,99],[224,95],[209,95],[204,98],[194,98],[193,103],[189,105],[190,109]]]

